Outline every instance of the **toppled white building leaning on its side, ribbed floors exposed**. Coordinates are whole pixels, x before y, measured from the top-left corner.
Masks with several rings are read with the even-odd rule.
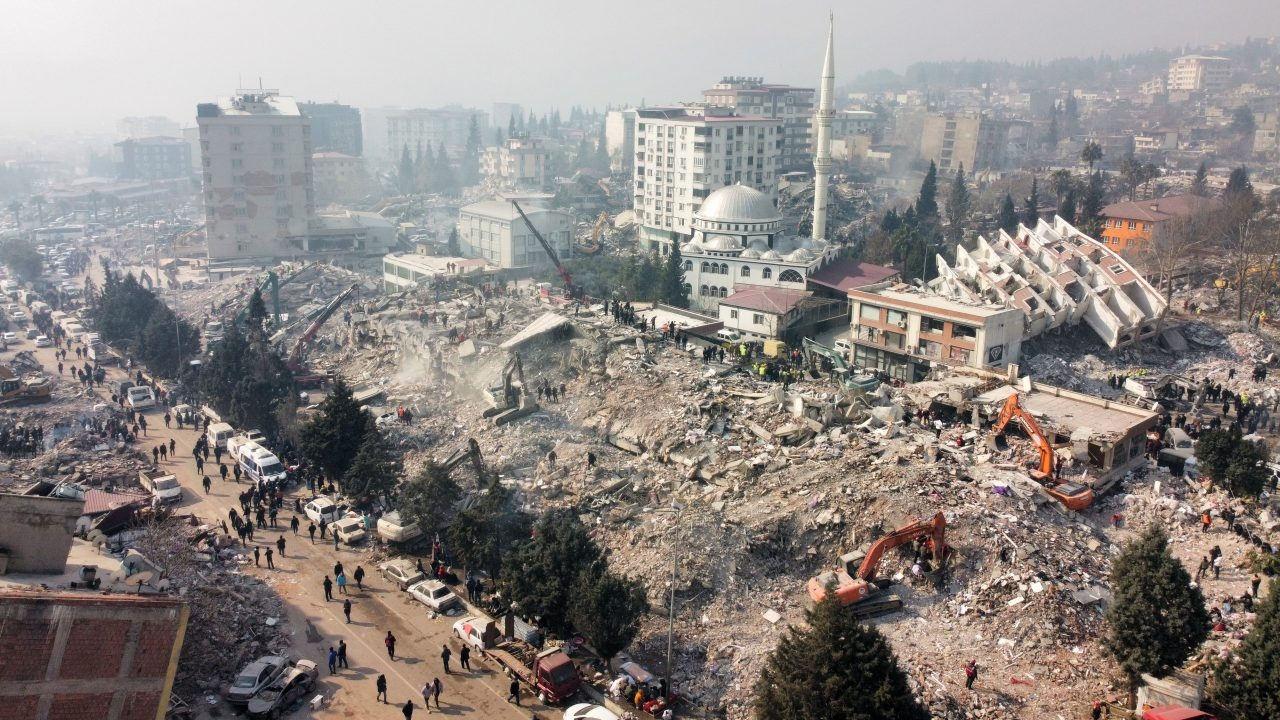
[[[1112,348],[1156,336],[1167,305],[1125,259],[1057,215],[1016,236],[978,237],[975,249],[956,249],[955,265],[938,256],[929,287],[1021,310],[1023,340],[1083,320]]]

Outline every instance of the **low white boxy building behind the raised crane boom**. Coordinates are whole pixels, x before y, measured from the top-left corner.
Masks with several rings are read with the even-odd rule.
[[[573,214],[536,200],[520,208],[563,260],[573,252]],[[480,258],[498,268],[549,265],[550,258],[509,200],[481,200],[458,211],[458,245],[466,258]]]

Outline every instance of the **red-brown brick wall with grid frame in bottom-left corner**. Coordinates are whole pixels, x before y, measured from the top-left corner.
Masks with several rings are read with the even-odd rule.
[[[178,598],[0,591],[0,720],[164,717]]]

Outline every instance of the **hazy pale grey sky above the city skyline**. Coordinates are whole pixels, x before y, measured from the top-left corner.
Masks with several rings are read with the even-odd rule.
[[[243,78],[306,100],[526,108],[694,100],[723,74],[837,82],[1280,35],[1277,0],[0,0],[0,132],[191,123]]]

